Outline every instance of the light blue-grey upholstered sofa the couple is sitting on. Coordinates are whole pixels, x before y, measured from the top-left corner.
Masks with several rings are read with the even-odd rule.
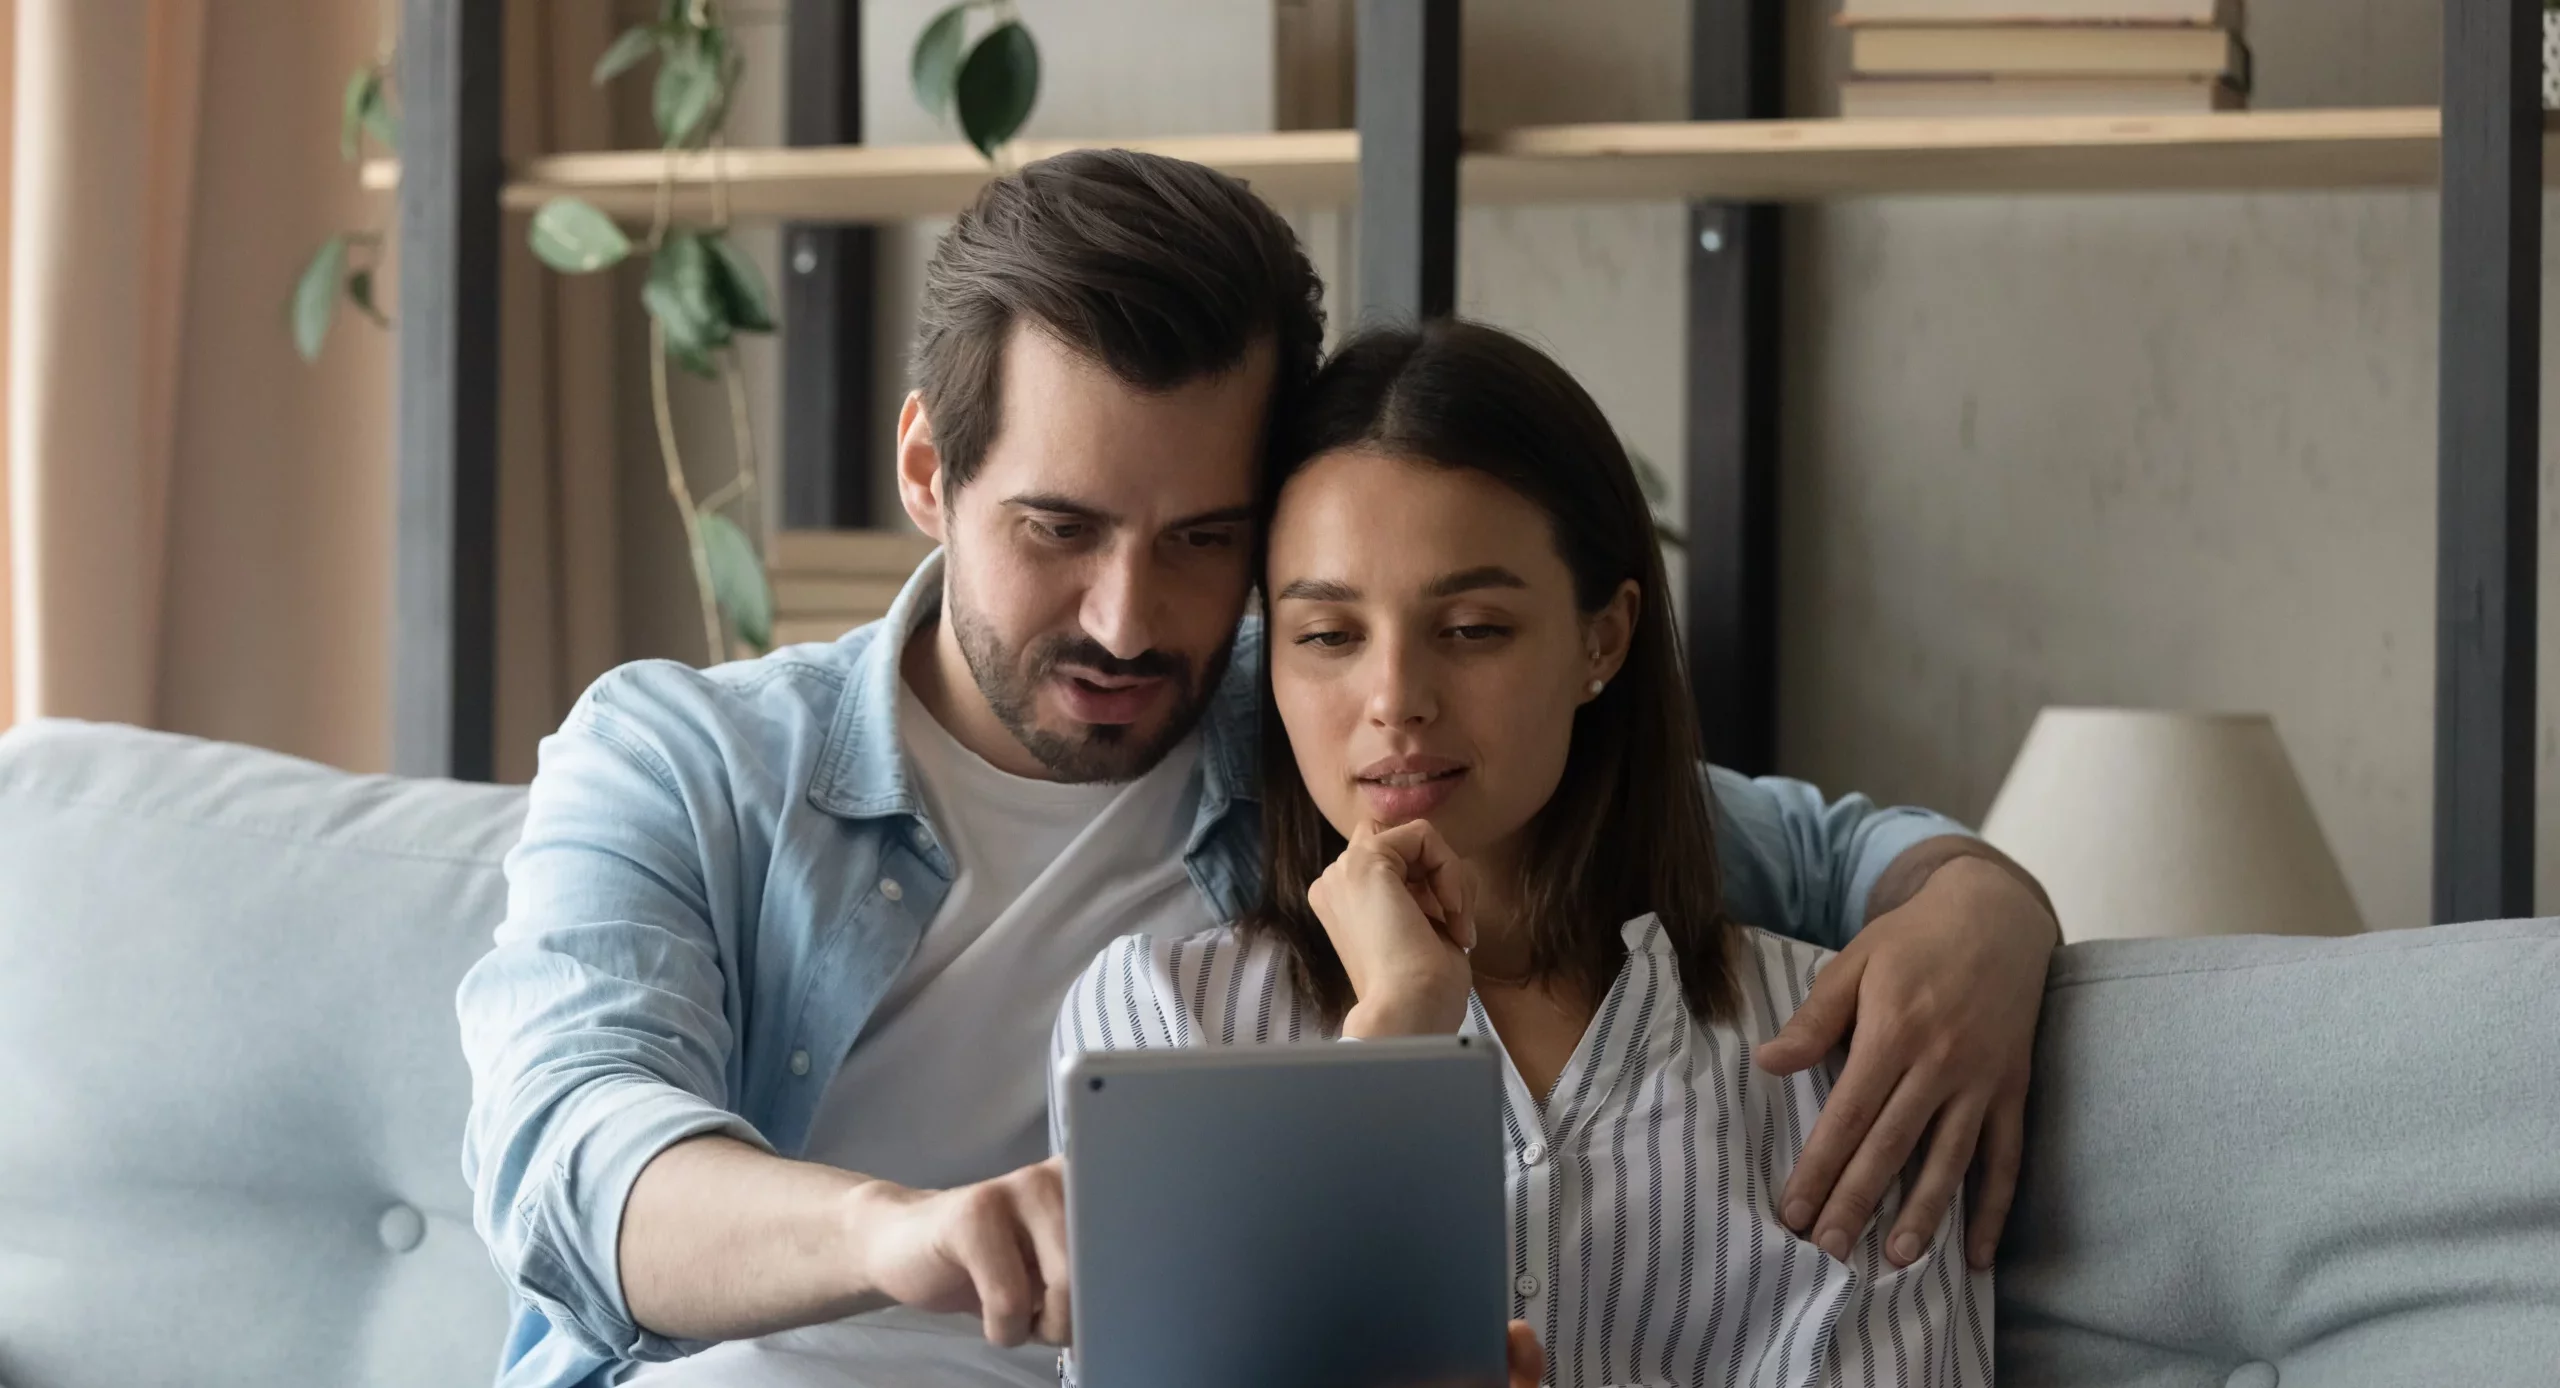
[[[471,1388],[520,794],[0,738],[0,1385]],[[2560,922],[2063,950],[2007,1383],[2560,1383]]]

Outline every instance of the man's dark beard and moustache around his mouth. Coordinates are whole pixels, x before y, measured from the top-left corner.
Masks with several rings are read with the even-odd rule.
[[[1190,661],[1170,650],[1142,650],[1121,661],[1111,650],[1103,650],[1103,643],[1083,633],[1050,633],[1027,650],[1016,650],[968,604],[960,584],[947,584],[945,594],[942,620],[952,625],[960,656],[968,658],[968,674],[978,681],[986,707],[1060,781],[1137,781],[1147,771],[1155,771],[1155,763],[1165,761],[1165,753],[1201,725],[1201,714],[1219,691],[1226,661],[1236,645],[1234,633],[1229,633],[1201,671],[1193,671]],[[1134,740],[1137,725],[1119,722],[1088,722],[1080,735],[1052,732],[1039,727],[1037,720],[1039,686],[1057,674],[1057,666],[1083,666],[1096,674],[1129,679],[1165,679],[1172,689],[1172,712],[1165,717],[1165,727],[1144,743]]]

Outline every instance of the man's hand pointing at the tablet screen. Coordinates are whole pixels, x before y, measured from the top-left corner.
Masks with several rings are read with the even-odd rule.
[[[1068,1342],[1065,1160],[957,1186],[909,1191],[870,1181],[850,1193],[863,1280],[924,1311],[975,1311],[988,1344]]]

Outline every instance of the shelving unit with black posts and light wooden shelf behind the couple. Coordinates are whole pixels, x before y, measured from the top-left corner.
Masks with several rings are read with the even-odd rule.
[[[858,61],[850,8],[794,0]],[[399,192],[404,238],[394,755],[463,776],[486,773],[499,210],[579,195],[645,220],[663,177],[658,151],[502,169],[494,15],[497,0],[404,0],[412,166],[364,172]],[[1449,310],[1459,202],[1692,202],[1687,640],[1695,668],[1713,671],[1700,684],[1710,750],[1746,771],[1774,750],[1777,205],[2442,187],[2437,917],[2527,914],[2540,218],[2545,172],[2560,166],[2547,159],[2560,125],[2540,110],[2540,3],[2447,0],[2445,113],[1777,120],[1782,20],[1782,0],[1692,0],[1700,120],[1459,133],[1459,0],[1362,0],[1359,131],[1129,143],[1236,174],[1285,207],[1359,202],[1362,305],[1405,315]],[[1024,141],[1009,159],[1065,149]],[[819,228],[950,215],[993,177],[960,143],[732,149],[681,164],[678,215],[709,213],[714,159],[737,218]],[[860,338],[842,323],[832,333]]]

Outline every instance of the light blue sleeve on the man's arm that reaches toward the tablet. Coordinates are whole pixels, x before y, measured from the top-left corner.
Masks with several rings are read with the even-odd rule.
[[[507,919],[456,994],[479,1234],[553,1332],[607,1360],[686,1352],[622,1296],[640,1170],[707,1132],[771,1150],[730,1109],[735,1035],[694,825],[666,761],[581,704],[543,743]]]

